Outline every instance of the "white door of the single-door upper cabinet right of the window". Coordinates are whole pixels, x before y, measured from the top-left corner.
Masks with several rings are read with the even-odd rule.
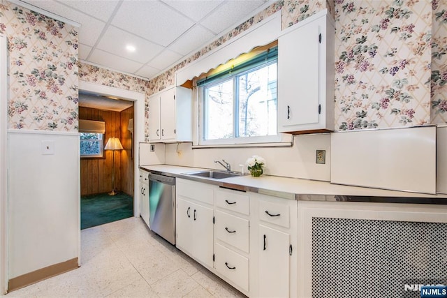
[[[311,22],[278,40],[280,126],[318,123],[318,25]]]

